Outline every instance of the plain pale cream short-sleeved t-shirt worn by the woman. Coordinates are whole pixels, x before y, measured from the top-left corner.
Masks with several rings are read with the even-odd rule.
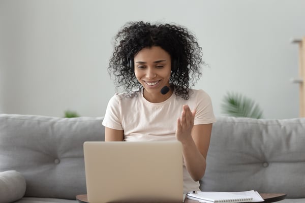
[[[190,98],[185,100],[174,93],[162,103],[150,103],[138,93],[128,97],[126,93],[116,93],[110,98],[103,125],[124,130],[125,141],[175,141],[177,118],[181,116],[182,106],[196,109],[194,125],[216,121],[211,99],[203,90],[191,90]],[[195,182],[184,165],[184,191],[198,191]]]

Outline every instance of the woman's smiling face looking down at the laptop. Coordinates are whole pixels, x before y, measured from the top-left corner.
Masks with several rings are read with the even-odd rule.
[[[144,96],[161,96],[161,89],[169,86],[170,55],[161,47],[143,48],[134,57],[135,75],[144,87]]]

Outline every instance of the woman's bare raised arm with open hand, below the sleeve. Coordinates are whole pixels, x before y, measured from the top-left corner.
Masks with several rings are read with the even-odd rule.
[[[196,111],[185,105],[177,120],[176,138],[182,144],[187,170],[194,181],[199,181],[205,172],[212,124],[194,125]]]

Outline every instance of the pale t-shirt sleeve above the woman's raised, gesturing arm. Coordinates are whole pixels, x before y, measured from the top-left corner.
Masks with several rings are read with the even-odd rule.
[[[196,97],[197,108],[194,125],[214,123],[216,121],[216,117],[214,115],[210,96],[205,91],[198,90]]]

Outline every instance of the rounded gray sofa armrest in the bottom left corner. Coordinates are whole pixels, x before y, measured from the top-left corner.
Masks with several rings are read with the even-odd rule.
[[[0,173],[0,203],[10,203],[21,199],[25,193],[24,177],[16,171]]]

